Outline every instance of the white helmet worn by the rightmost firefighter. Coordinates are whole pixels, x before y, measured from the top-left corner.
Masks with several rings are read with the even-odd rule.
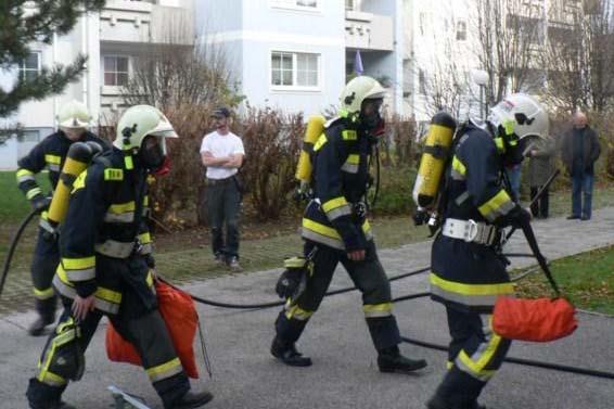
[[[488,122],[498,127],[513,119],[514,133],[525,137],[548,137],[548,114],[537,100],[526,93],[512,93],[499,102],[488,115]]]

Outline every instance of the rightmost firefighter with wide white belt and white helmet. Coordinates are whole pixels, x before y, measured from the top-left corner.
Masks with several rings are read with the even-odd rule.
[[[522,162],[525,137],[546,137],[547,129],[541,105],[512,94],[484,126],[469,122],[457,132],[430,277],[432,298],[446,307],[451,342],[448,371],[428,409],[484,408],[477,397],[508,353],[510,340],[490,323],[496,298],[513,293],[498,242],[501,228],[520,227],[530,216],[512,200],[503,171]]]

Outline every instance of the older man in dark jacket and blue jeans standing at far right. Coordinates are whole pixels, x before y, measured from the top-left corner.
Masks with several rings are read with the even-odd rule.
[[[573,183],[572,215],[567,217],[570,220],[590,220],[594,162],[600,153],[597,132],[588,126],[585,114],[576,113],[573,117],[573,128],[563,136],[562,142],[562,159]]]

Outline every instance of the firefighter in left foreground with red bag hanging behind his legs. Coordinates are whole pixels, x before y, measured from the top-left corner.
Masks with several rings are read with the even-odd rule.
[[[213,398],[190,391],[153,286],[146,177],[166,167],[165,140],[177,135],[149,105],[127,110],[117,129],[113,149],[73,183],[53,278],[64,312],[29,381],[31,409],[72,408],[61,395],[82,375],[84,353],[103,315],[136,347],[165,409],[196,408]]]

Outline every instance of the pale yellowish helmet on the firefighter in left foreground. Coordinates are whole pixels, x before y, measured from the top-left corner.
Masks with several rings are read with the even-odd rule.
[[[119,118],[113,144],[124,151],[139,149],[146,136],[163,139],[178,138],[172,125],[158,108],[151,105],[135,105]]]

